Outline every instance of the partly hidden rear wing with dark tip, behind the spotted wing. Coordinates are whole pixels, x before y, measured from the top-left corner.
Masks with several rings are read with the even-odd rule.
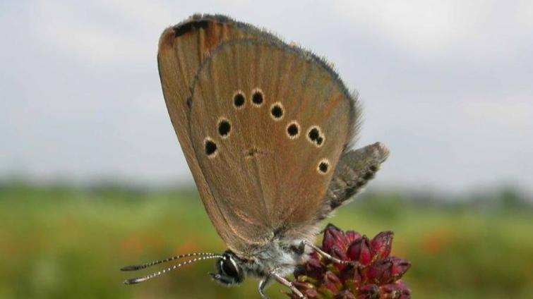
[[[234,238],[234,233],[231,233],[224,221],[224,215],[220,209],[217,209],[193,154],[188,126],[190,109],[187,101],[191,97],[194,75],[210,51],[222,42],[241,37],[276,40],[267,32],[224,16],[196,15],[164,30],[157,54],[161,85],[172,125],[193,173],[205,209],[217,232],[226,242]]]

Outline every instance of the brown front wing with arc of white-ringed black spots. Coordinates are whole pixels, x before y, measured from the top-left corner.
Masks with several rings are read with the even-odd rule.
[[[190,128],[214,203],[239,237],[229,248],[316,221],[356,115],[345,85],[309,52],[258,39],[215,50],[193,84]]]

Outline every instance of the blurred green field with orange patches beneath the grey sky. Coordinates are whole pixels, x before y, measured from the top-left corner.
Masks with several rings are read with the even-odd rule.
[[[393,254],[412,262],[404,281],[414,298],[533,298],[532,209],[366,195],[330,222],[369,236],[395,231]],[[224,245],[192,189],[0,185],[0,298],[258,298],[256,281],[210,281],[212,261],[121,283],[126,264],[200,250]],[[280,291],[268,293],[285,298]]]

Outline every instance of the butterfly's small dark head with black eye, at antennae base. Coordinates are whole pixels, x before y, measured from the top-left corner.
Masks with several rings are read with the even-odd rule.
[[[213,280],[224,286],[236,286],[244,281],[244,270],[241,264],[242,260],[234,252],[227,250],[215,264],[217,273],[210,273],[210,275]]]

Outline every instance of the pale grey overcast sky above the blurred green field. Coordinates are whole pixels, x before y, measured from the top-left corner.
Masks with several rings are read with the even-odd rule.
[[[191,181],[157,40],[195,12],[268,28],[359,91],[374,185],[533,190],[533,1],[1,1],[0,176]]]

